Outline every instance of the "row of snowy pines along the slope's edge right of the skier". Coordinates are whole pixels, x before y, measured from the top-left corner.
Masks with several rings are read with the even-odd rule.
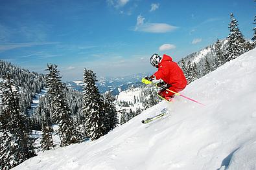
[[[224,41],[217,39],[214,45],[215,55],[213,56],[215,56],[215,59],[212,63],[209,61],[207,56],[204,58],[203,65],[197,65],[196,63],[191,63],[191,61],[185,63],[185,59],[181,59],[180,67],[183,70],[188,83],[205,76],[221,65],[224,65],[227,61],[231,61],[241,54],[244,54],[244,52],[248,52],[256,47],[256,27],[253,28],[253,37],[251,38],[252,42],[250,42],[244,38],[244,35],[238,27],[239,24],[237,19],[235,19],[234,14],[231,13],[230,19],[231,22],[228,25],[229,35],[226,40],[224,40],[227,41],[226,47],[224,46]],[[256,16],[254,17],[253,24],[256,24]],[[203,69],[199,69],[201,67]]]

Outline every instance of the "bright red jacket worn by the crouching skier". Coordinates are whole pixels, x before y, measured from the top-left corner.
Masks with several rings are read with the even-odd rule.
[[[153,74],[156,80],[163,80],[165,83],[172,85],[178,89],[184,89],[187,80],[177,63],[172,61],[170,56],[163,54],[163,58],[158,65],[158,70]]]

